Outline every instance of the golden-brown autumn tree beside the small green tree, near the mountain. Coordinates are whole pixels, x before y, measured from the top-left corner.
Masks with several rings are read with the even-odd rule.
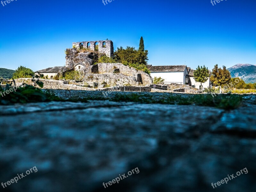
[[[223,66],[223,69],[222,69],[222,68],[218,68],[218,64],[216,64],[212,69],[212,75],[210,80],[212,84],[221,86],[221,85],[230,83],[231,75],[225,66]]]

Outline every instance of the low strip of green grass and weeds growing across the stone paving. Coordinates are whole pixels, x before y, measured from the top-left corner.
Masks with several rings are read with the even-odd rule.
[[[10,90],[7,85],[5,89],[0,87],[0,92]],[[61,99],[49,91],[43,92],[33,86],[19,87],[16,92],[10,92],[4,97],[0,95],[0,105],[11,105],[14,103],[48,102],[48,101],[70,101],[88,102],[88,100],[110,100],[115,102],[136,102],[144,104],[171,104],[171,105],[194,105],[221,108],[232,110],[243,104],[243,96],[238,94],[219,94],[212,97],[211,94],[163,94],[157,95],[149,93],[115,93],[110,97],[96,96],[84,98]],[[256,104],[256,101],[253,102]]]

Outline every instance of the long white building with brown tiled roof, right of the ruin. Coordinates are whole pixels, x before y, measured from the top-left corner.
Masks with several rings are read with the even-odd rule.
[[[164,79],[164,84],[188,84],[188,69],[186,65],[171,65],[171,66],[152,66],[147,65],[150,70],[150,75],[161,77]]]

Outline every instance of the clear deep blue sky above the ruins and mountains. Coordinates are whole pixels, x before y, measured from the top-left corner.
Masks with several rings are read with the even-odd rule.
[[[255,0],[14,0],[0,4],[0,68],[64,66],[72,42],[138,48],[141,36],[152,65],[255,65],[255,10]]]

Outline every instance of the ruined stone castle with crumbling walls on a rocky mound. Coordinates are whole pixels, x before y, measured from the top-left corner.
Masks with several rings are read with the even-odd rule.
[[[103,55],[113,57],[114,48],[111,40],[83,41],[72,44],[73,48],[66,49],[65,67],[47,68],[37,71],[51,76],[63,74],[70,70],[82,74],[82,84],[103,88],[106,86],[151,84],[152,78],[143,71],[130,68],[122,63],[97,63]],[[54,69],[54,70],[53,70]],[[50,75],[53,72],[53,75]],[[94,86],[93,86],[94,87]]]

